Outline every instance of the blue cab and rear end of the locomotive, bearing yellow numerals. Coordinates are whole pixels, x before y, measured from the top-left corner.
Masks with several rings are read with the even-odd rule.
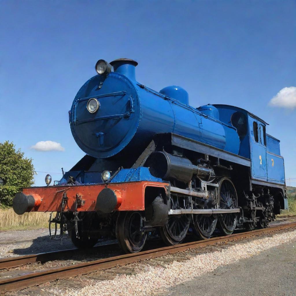
[[[249,177],[252,190],[272,196],[275,213],[287,209],[284,158],[280,154],[280,141],[266,133],[268,123],[235,106],[217,104],[215,107],[222,121],[237,128],[240,139],[238,154],[251,162]]]

